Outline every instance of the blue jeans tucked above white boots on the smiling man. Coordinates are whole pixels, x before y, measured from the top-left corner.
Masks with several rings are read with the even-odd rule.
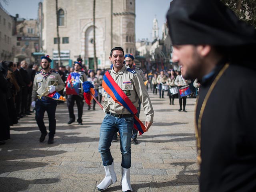
[[[120,134],[120,150],[122,153],[123,168],[131,167],[131,135],[134,124],[133,117],[115,118],[106,114],[100,126],[99,152],[104,166],[111,165],[113,162],[110,153],[112,138],[116,132]]]

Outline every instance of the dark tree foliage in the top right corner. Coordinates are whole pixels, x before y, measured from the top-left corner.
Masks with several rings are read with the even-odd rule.
[[[221,0],[241,19],[256,28],[256,0]]]

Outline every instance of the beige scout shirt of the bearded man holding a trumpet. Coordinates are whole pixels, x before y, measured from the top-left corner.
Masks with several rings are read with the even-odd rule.
[[[52,72],[46,77],[44,77],[41,72],[36,73],[32,90],[32,101],[36,101],[37,95],[45,92],[47,88],[49,88],[49,86],[54,84],[56,81],[58,85],[55,86],[55,90],[58,92],[65,86],[60,74],[54,70],[52,70]]]

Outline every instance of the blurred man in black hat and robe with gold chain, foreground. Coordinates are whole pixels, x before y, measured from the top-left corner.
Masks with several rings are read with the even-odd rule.
[[[200,192],[256,191],[256,29],[220,0],[174,0],[167,20],[172,61],[201,84]]]

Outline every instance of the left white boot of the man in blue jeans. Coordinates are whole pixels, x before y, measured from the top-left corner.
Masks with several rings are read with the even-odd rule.
[[[104,166],[106,175],[105,178],[98,184],[97,188],[99,191],[107,189],[111,184],[117,181],[116,173],[114,171],[114,160],[111,165]]]

